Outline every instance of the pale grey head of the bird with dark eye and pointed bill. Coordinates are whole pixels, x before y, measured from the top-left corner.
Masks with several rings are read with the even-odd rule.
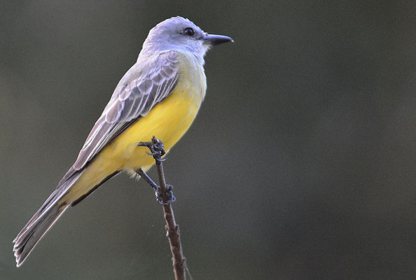
[[[181,17],[169,18],[149,31],[141,55],[152,55],[163,50],[191,52],[203,59],[212,45],[233,42],[228,36],[210,35],[193,22]]]

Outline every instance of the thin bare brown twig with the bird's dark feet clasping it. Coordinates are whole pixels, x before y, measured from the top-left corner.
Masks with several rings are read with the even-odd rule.
[[[144,177],[144,179],[155,189],[158,202],[162,204],[166,221],[166,236],[169,240],[170,251],[172,253],[172,265],[175,280],[185,280],[183,268],[186,267],[186,260],[183,258],[181,239],[179,236],[179,225],[176,224],[174,211],[172,209],[172,202],[174,201],[172,186],[166,184],[165,174],[163,172],[162,155],[165,154],[165,151],[163,150],[162,141],[153,136],[151,142],[139,143],[139,146],[147,146],[151,151],[150,155],[153,155],[153,158],[155,158],[156,168],[158,169],[159,186],[156,186],[155,183],[151,181],[150,177],[148,177],[141,169],[137,170],[137,173],[141,177]]]

